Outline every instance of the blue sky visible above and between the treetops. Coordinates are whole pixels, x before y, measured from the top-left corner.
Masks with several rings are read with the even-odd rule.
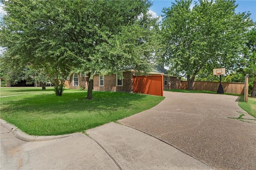
[[[153,5],[150,10],[156,13],[156,16],[163,15],[162,9],[164,7],[168,8],[172,6],[172,2],[175,0],[152,0]],[[193,4],[193,2],[192,2]],[[248,12],[251,13],[250,18],[256,22],[256,0],[236,0],[238,7],[236,8],[236,13]]]

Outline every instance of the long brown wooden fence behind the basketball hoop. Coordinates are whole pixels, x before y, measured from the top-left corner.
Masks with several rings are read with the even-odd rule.
[[[219,84],[220,82],[194,81],[193,89],[194,90],[210,90],[210,91],[217,92]],[[244,83],[222,82],[221,84],[224,89],[224,93],[244,94]],[[188,87],[187,81],[180,82],[180,89],[187,89],[187,87]]]

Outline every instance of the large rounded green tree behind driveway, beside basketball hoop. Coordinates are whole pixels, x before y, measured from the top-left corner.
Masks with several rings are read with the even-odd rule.
[[[192,90],[201,70],[230,70],[237,63],[245,33],[253,25],[250,14],[236,14],[235,0],[176,0],[164,8],[162,21],[162,57],[172,72],[186,75]]]

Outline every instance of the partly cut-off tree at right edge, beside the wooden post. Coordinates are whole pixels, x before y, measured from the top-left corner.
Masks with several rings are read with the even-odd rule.
[[[252,97],[256,96],[256,27],[247,33],[246,49],[244,52],[245,68],[244,72],[249,74],[249,79],[253,82]]]

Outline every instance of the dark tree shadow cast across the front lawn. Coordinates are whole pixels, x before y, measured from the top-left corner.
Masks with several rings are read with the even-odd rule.
[[[146,95],[129,94],[120,92],[94,92],[93,100],[86,100],[87,92],[64,93],[62,97],[55,94],[40,94],[22,97],[10,107],[3,108],[2,111],[17,110],[34,112],[35,114],[60,114],[70,112],[96,112],[96,111],[116,111],[118,109],[133,107],[133,104]]]

